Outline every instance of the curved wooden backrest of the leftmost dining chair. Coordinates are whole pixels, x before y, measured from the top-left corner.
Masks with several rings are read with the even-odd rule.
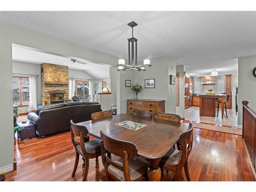
[[[79,153],[77,151],[77,145],[80,145],[81,147],[81,151],[82,151],[82,156],[87,156],[87,152],[86,152],[86,147],[84,146],[84,139],[87,137],[88,134],[88,129],[86,126],[82,126],[82,125],[77,125],[73,122],[73,120],[70,120],[71,123],[71,140],[72,143],[75,147],[75,150],[77,153]],[[80,137],[80,140],[77,140],[76,137]]]

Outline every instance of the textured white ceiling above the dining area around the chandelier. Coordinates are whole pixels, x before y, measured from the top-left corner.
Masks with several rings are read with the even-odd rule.
[[[0,20],[120,58],[127,58],[127,23],[134,20],[139,60],[170,55],[189,73],[237,73],[221,63],[256,54],[256,12],[2,11]]]

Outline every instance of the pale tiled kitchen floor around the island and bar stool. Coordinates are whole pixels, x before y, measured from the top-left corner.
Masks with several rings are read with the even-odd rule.
[[[216,109],[217,110],[217,109]],[[221,125],[228,126],[238,126],[238,116],[236,116],[236,111],[227,109],[224,113],[223,119],[221,118],[221,110],[219,111],[218,117],[206,117],[199,115],[199,106],[190,106],[190,108],[185,109],[185,119],[191,121],[207,122],[207,123],[216,123]]]

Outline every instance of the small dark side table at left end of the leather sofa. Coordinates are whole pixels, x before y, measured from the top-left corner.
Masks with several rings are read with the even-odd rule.
[[[26,123],[19,122],[17,123],[19,126],[23,126],[24,130],[18,131],[18,138],[23,141],[25,139],[34,138],[36,137],[35,132],[35,124],[27,120]]]

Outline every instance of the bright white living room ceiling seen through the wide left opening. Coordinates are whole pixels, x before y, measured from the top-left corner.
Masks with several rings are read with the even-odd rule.
[[[84,63],[73,63],[70,58],[48,53],[42,53],[20,46],[12,46],[12,60],[30,62],[40,65],[43,62],[55,65],[68,66],[70,69],[85,71],[94,78],[109,78],[109,66],[99,65],[83,59],[77,59]]]

